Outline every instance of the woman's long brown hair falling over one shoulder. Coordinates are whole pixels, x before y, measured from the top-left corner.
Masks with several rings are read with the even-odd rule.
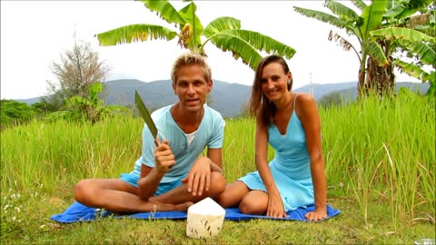
[[[252,96],[250,98],[250,103],[248,104],[249,112],[252,116],[257,117],[262,122],[263,126],[268,126],[272,123],[272,119],[275,115],[275,105],[270,102],[262,92],[262,71],[263,67],[267,64],[278,63],[282,65],[283,73],[289,73],[289,66],[282,56],[277,54],[272,54],[264,57],[261,62],[257,65],[256,73],[254,75]],[[292,80],[288,83],[288,90],[291,91]]]

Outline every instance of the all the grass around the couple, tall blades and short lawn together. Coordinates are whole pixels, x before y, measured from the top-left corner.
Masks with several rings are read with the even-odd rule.
[[[435,239],[435,102],[415,96],[320,109],[331,220],[224,221],[207,240],[185,236],[185,220],[113,217],[59,224],[74,183],[131,171],[141,152],[139,118],[94,125],[30,122],[1,133],[1,243],[49,244],[404,244]],[[271,149],[271,148],[270,148]],[[254,122],[226,120],[223,172],[254,171]],[[272,150],[268,152],[272,158]]]

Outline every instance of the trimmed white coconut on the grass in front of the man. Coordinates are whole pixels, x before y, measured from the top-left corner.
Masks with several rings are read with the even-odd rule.
[[[186,236],[190,238],[209,238],[217,235],[222,226],[225,210],[211,198],[205,198],[188,209]]]

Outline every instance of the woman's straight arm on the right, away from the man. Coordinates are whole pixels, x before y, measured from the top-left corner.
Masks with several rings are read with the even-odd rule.
[[[315,195],[315,211],[307,213],[306,219],[323,220],[327,218],[327,181],[322,158],[320,114],[312,95],[309,93],[300,93],[297,97],[295,110],[302,121],[306,136]]]

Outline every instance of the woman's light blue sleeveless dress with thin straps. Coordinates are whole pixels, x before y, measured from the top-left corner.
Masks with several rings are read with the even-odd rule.
[[[268,127],[268,142],[275,150],[275,157],[269,166],[275,185],[282,196],[284,210],[293,211],[313,204],[311,161],[302,122],[295,109],[285,135],[279,132],[275,124]],[[258,171],[248,173],[239,181],[243,181],[250,190],[267,192]]]

